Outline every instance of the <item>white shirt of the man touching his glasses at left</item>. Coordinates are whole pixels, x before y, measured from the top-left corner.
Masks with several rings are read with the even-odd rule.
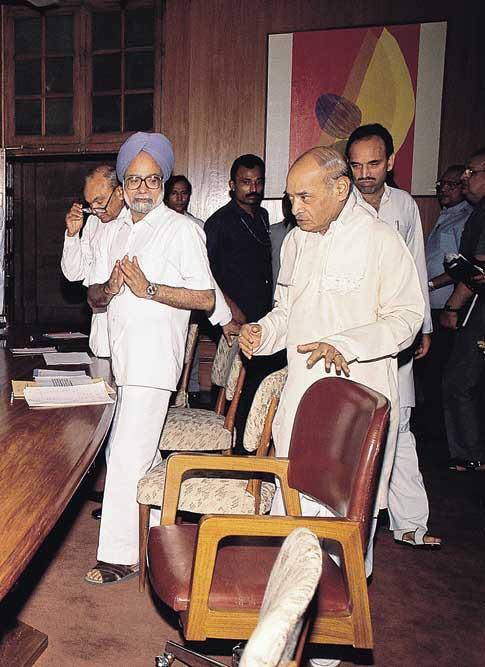
[[[64,237],[61,269],[67,280],[74,282],[83,280],[89,286],[87,278],[93,263],[93,249],[101,236],[106,232],[106,225],[95,216],[90,215],[83,228],[82,237],[79,234]],[[109,357],[108,316],[106,308],[93,310],[91,318],[91,333],[89,347],[97,357]]]

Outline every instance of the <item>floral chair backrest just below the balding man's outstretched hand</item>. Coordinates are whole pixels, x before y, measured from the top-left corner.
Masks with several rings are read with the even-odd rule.
[[[268,415],[268,408],[274,399],[274,409],[278,407],[281,392],[285,386],[286,378],[288,377],[288,368],[282,368],[275,371],[264,378],[259,385],[251,408],[249,410],[248,418],[246,420],[246,427],[244,429],[244,449],[248,452],[256,451],[261,443],[261,438],[266,424]],[[273,413],[274,414],[274,413]],[[269,434],[271,436],[271,433]],[[267,442],[269,445],[269,440]],[[267,452],[261,452],[265,455]]]

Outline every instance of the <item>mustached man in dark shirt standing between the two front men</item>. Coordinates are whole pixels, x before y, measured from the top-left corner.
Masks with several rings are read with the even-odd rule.
[[[265,166],[256,155],[241,155],[231,167],[231,201],[205,223],[211,271],[222,289],[233,319],[255,322],[272,308],[273,277],[268,212],[261,207]],[[236,452],[242,448],[244,426],[261,380],[286,364],[286,355],[255,357],[236,416]]]

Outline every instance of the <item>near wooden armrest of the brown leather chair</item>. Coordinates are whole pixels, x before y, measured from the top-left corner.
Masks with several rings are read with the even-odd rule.
[[[311,530],[319,539],[334,540],[341,545],[343,572],[352,604],[369,614],[364,556],[357,521],[333,517],[208,515],[199,523],[191,579],[189,624],[191,618],[196,619],[208,608],[217,548],[223,538],[286,537],[300,526]]]

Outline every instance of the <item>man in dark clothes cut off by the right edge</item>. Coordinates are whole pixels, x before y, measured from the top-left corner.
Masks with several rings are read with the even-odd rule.
[[[460,253],[485,266],[485,147],[468,160],[462,174],[463,192],[475,210],[463,229]],[[477,341],[485,333],[485,284],[482,278],[458,283],[441,314],[441,324],[456,329],[458,312],[477,301],[466,325],[458,329],[443,377],[443,407],[450,450],[450,470],[485,470],[485,438],[481,407],[481,384],[485,357]]]

